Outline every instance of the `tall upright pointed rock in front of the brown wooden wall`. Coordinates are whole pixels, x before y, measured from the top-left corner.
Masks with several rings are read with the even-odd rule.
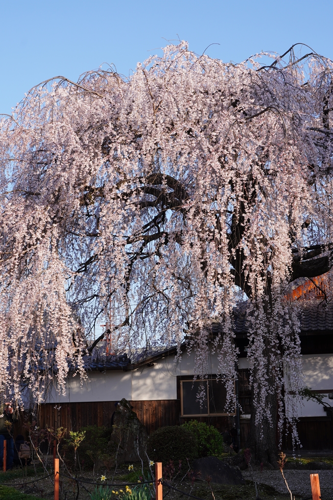
[[[127,461],[135,462],[145,456],[146,427],[125,398],[116,406],[110,444],[113,444],[117,465]]]

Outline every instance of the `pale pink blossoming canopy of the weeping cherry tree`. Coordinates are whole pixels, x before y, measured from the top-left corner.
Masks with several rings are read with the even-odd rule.
[[[2,392],[19,398],[24,378],[41,400],[50,363],[60,388],[70,367],[84,376],[106,316],[119,348],[185,331],[203,375],[218,320],[232,402],[233,311],[246,303],[256,421],[269,419],[283,364],[301,384],[288,286],[331,267],[332,70],[293,47],[232,64],[182,42],[128,78],[43,82],[3,116]]]

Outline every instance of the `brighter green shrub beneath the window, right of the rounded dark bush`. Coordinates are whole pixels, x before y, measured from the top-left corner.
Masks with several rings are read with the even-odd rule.
[[[198,455],[219,456],[224,452],[223,437],[213,426],[198,420],[183,423],[182,427],[192,432],[198,441]]]

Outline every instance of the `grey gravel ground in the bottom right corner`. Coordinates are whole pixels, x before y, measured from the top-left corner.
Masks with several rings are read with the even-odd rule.
[[[251,472],[243,471],[245,479],[252,479]],[[321,486],[321,496],[333,498],[333,470],[285,470],[284,474],[293,494],[303,498],[311,496],[310,474],[318,473]],[[280,470],[254,471],[257,482],[273,486],[280,493],[288,493],[287,486]]]

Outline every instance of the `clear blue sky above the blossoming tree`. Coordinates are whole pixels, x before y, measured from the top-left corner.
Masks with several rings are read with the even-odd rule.
[[[102,62],[128,75],[169,40],[224,61],[304,42],[333,59],[333,0],[0,0],[0,112],[55,75]],[[304,52],[303,52],[304,53]]]

